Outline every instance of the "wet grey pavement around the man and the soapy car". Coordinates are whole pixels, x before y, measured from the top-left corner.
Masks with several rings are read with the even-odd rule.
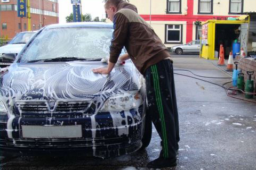
[[[187,69],[206,77],[230,77],[197,55],[173,55],[173,61],[174,73],[196,77],[178,71]],[[220,85],[231,81],[200,79]],[[175,86],[180,123],[178,166],[164,169],[255,169],[256,104],[230,98],[219,86],[183,75],[175,74]],[[1,169],[147,169],[147,163],[156,159],[160,150],[160,139],[153,129],[148,148],[131,155],[105,160],[79,156],[2,157]]]

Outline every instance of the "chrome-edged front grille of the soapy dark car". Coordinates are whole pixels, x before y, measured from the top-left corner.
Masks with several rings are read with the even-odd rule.
[[[91,100],[67,100],[54,101],[54,105],[49,104],[47,100],[18,100],[15,106],[18,108],[20,116],[53,116],[55,114],[65,113],[85,113],[91,106]],[[33,117],[34,117],[33,116]]]

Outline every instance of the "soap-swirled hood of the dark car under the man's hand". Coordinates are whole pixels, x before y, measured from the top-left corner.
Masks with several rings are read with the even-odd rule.
[[[141,76],[128,61],[108,74],[94,74],[101,62],[13,63],[0,77],[0,98],[14,100],[106,100],[124,91],[140,89]]]

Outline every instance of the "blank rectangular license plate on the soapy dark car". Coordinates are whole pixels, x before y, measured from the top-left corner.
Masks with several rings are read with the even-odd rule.
[[[82,138],[82,126],[21,125],[22,138]]]

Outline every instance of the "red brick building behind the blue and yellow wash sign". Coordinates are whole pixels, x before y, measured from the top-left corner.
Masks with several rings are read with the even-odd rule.
[[[30,0],[31,30],[59,23],[58,0]],[[28,18],[18,17],[17,0],[0,0],[0,36],[13,38],[28,31]]]

